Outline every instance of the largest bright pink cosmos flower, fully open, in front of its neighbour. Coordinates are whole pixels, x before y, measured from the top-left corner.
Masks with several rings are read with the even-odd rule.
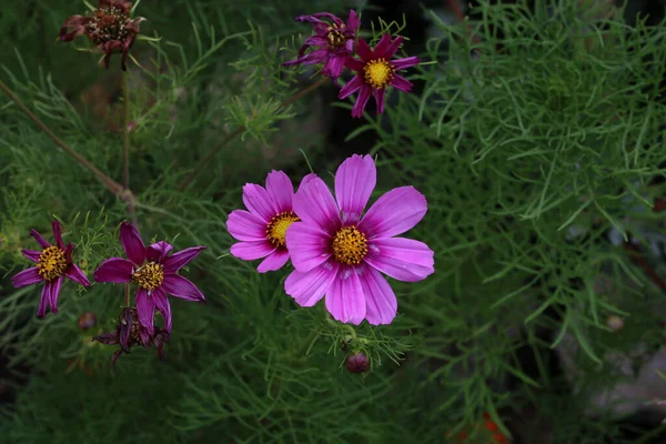
[[[432,274],[434,253],[423,242],[395,238],[423,219],[427,203],[413,186],[382,195],[363,215],[376,183],[370,155],[353,155],[335,173],[335,195],[320,178],[309,174],[294,195],[302,222],[286,232],[295,271],[284,290],[302,306],[324,295],[334,319],[360,324],[389,324],[397,301],[382,276],[416,282]]]

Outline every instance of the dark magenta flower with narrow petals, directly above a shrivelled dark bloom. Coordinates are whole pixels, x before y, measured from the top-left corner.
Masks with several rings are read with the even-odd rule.
[[[205,246],[192,246],[169,254],[173,246],[164,241],[145,246],[131,223],[120,225],[120,240],[128,259],[111,258],[94,271],[98,282],[134,282],[139,322],[149,335],[154,334],[155,309],[164,316],[164,327],[171,333],[171,306],[167,294],[185,301],[203,302],[203,293],[178,271],[201,253]]]

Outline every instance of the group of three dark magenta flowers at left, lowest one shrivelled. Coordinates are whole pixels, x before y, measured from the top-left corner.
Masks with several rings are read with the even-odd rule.
[[[22,250],[26,258],[37,265],[18,273],[12,279],[16,287],[44,282],[38,316],[44,316],[47,310],[58,313],[58,296],[64,278],[83,286],[90,281],[81,269],[72,262],[74,245],[62,242],[60,222],[53,222],[51,245],[40,233],[30,233],[42,248],[42,251]],[[145,246],[137,228],[128,222],[120,225],[120,240],[128,259],[110,258],[94,271],[97,282],[137,284],[135,306],[123,307],[114,332],[94,336],[94,341],[104,344],[120,345],[112,355],[112,370],[122,352],[129,353],[134,345],[149,347],[154,345],[163,359],[163,344],[171,336],[171,305],[168,294],[185,301],[203,302],[203,293],[188,279],[178,272],[196,258],[205,246],[192,246],[172,253],[173,246],[164,241]],[[129,286],[128,286],[129,290]],[[164,327],[154,325],[154,315],[160,313],[164,319]]]

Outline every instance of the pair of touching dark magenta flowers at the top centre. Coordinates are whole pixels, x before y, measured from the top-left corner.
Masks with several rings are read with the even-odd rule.
[[[323,19],[330,20],[331,23]],[[323,64],[322,74],[335,82],[345,67],[355,71],[356,75],[340,90],[337,95],[339,99],[345,99],[359,92],[352,117],[363,115],[371,95],[374,95],[377,113],[383,113],[387,87],[404,92],[412,91],[414,87],[412,82],[397,72],[418,64],[418,58],[413,56],[393,59],[404,40],[402,37],[392,39],[391,34],[385,33],[374,49],[362,38],[356,42],[361,19],[354,10],[350,11],[346,23],[330,12],[299,16],[295,20],[312,23],[314,36],[305,40],[295,60],[283,64]],[[310,49],[314,50],[305,53]]]

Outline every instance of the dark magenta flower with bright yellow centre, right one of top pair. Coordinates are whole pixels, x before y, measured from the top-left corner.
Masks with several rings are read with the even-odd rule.
[[[377,104],[377,113],[381,114],[384,112],[386,87],[391,85],[404,92],[412,91],[414,84],[396,72],[418,64],[418,58],[413,56],[391,60],[403,40],[402,37],[397,37],[391,41],[391,36],[384,34],[373,51],[365,40],[359,39],[356,53],[361,57],[361,60],[349,57],[345,61],[345,67],[356,71],[357,74],[337,94],[339,99],[345,99],[360,91],[352,110],[353,118],[363,115],[363,110],[373,92]]]

